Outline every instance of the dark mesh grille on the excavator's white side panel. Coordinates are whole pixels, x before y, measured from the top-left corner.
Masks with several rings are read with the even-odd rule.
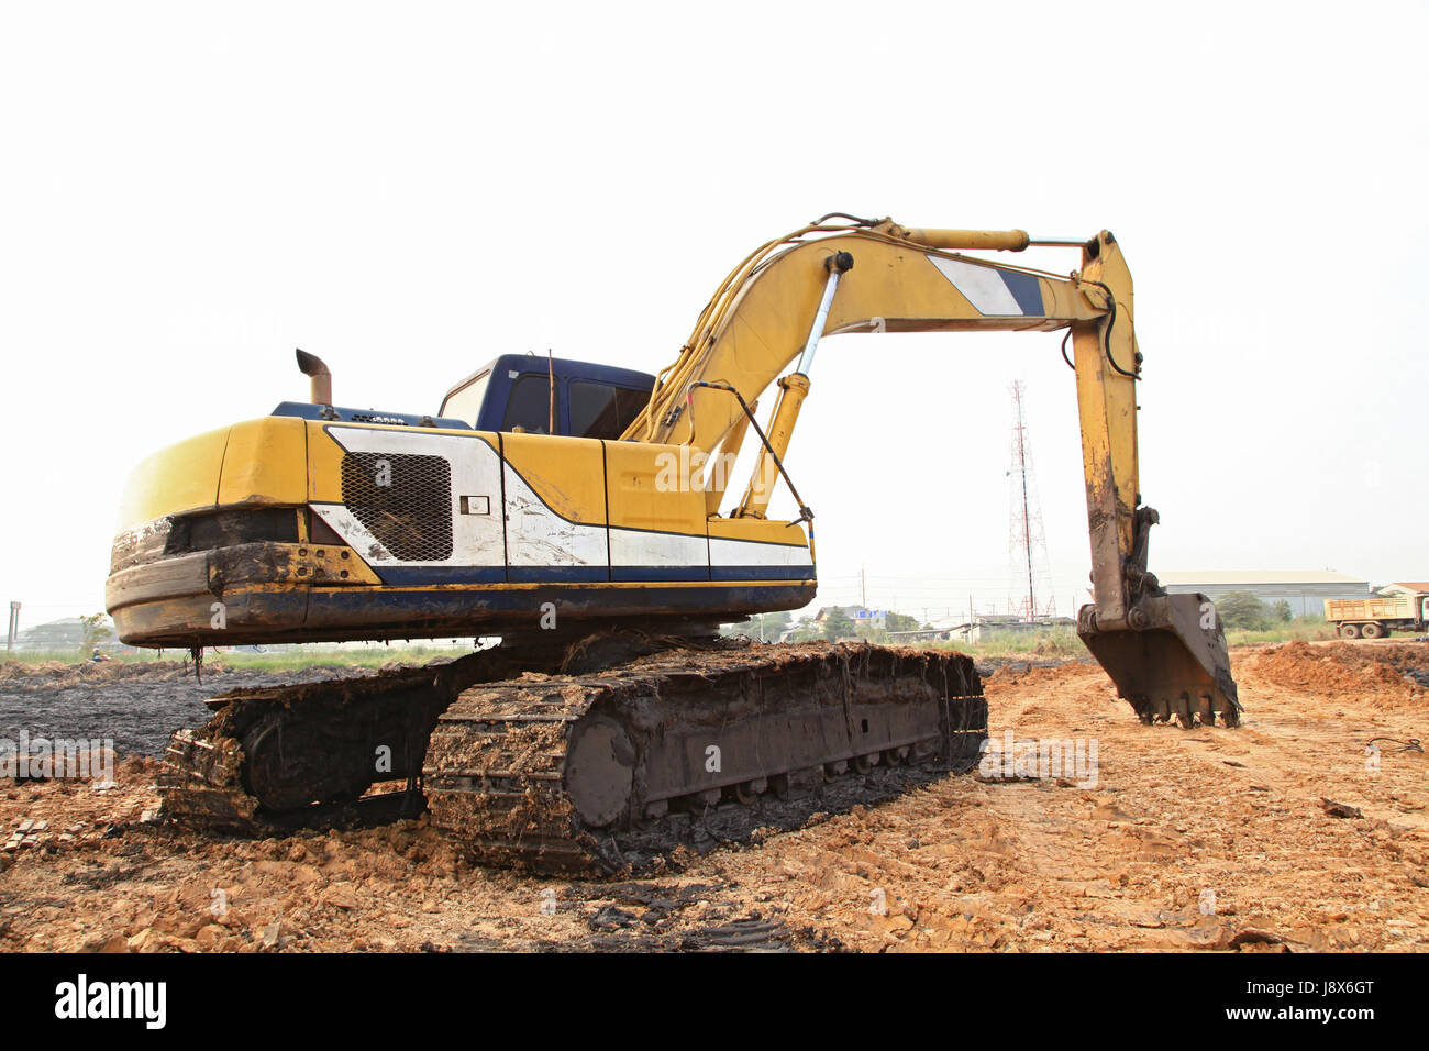
[[[400,562],[452,558],[452,465],[444,458],[346,453],[343,503]]]

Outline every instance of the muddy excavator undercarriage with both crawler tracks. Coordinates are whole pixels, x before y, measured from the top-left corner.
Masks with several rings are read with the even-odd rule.
[[[269,835],[426,805],[483,864],[586,875],[892,798],[970,769],[987,735],[960,653],[643,632],[209,705],[164,755],[169,819]]]

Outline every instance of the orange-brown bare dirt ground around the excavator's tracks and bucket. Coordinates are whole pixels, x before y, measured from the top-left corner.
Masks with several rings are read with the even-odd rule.
[[[6,831],[46,824],[0,852],[0,948],[1423,951],[1429,785],[1406,742],[1429,646],[1232,662],[1245,724],[1195,731],[1142,726],[1092,665],[1006,666],[979,774],[627,882],[472,867],[422,821],[263,841],[146,824],[144,758],[113,788],[3,781]],[[51,694],[21,692],[41,718]],[[1083,765],[1029,769],[1039,741],[1080,742]],[[1009,742],[1022,776],[993,762]]]

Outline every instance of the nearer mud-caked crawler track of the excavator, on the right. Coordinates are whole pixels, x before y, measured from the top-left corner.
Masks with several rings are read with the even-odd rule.
[[[433,824],[483,864],[599,875],[967,771],[986,736],[960,653],[679,649],[464,691],[423,782]]]

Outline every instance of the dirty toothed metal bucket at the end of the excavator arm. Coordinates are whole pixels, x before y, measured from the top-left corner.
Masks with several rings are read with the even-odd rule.
[[[1205,595],[1155,595],[1133,606],[1130,625],[1100,628],[1083,606],[1077,635],[1142,722],[1182,726],[1240,722],[1226,633]],[[1208,626],[1209,625],[1209,626]]]

